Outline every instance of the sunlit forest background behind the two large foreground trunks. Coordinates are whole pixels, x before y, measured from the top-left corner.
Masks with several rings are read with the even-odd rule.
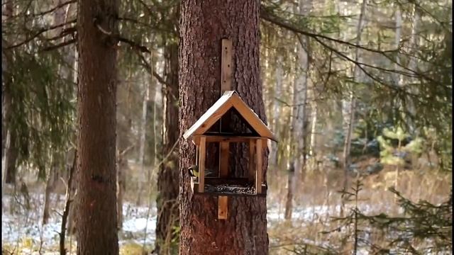
[[[179,4],[119,5],[121,254],[178,243]],[[270,253],[450,252],[451,13],[445,0],[261,1],[262,94],[279,138]],[[75,252],[76,17],[74,0],[2,1],[5,254],[58,251],[64,212]]]

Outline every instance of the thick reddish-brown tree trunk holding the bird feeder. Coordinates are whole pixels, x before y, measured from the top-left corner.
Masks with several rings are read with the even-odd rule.
[[[259,67],[258,0],[189,1],[181,5],[179,47],[180,135],[221,94],[221,39],[233,44],[232,89],[266,123]],[[229,124],[233,127],[233,121]],[[238,126],[238,123],[234,123]],[[245,131],[245,130],[237,130]],[[179,254],[268,254],[266,198],[228,197],[228,219],[218,220],[217,196],[194,196],[189,174],[195,146],[179,143]],[[245,176],[248,146],[232,146],[231,176]],[[207,168],[216,167],[215,149],[207,149]],[[263,152],[266,180],[268,149]]]

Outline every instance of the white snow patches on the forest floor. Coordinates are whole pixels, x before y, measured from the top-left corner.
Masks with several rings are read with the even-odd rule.
[[[9,203],[11,196],[2,197],[2,218],[1,218],[1,239],[3,243],[16,245],[24,240],[32,240],[34,245],[40,245],[42,242],[45,250],[57,249],[59,242],[58,232],[61,228],[61,216],[56,212],[50,212],[50,220],[47,225],[42,225],[43,215],[43,194],[31,193],[31,208],[28,212],[20,208],[19,212],[11,215],[9,210]],[[51,205],[55,204],[55,200],[60,200],[57,208],[53,208],[58,212],[62,212],[65,196],[53,194],[51,196]],[[352,205],[346,205],[351,208]],[[377,209],[383,210],[383,205],[367,205],[366,203],[359,205],[360,210],[366,213],[373,213]],[[321,217],[328,218],[329,216],[337,215],[340,211],[340,205],[295,205],[293,210],[292,219],[294,222],[313,222],[319,220]],[[157,212],[155,204],[148,206],[138,206],[133,203],[123,204],[123,227],[122,231],[118,233],[120,245],[128,242],[137,244],[153,245],[155,242],[155,227],[157,220]],[[268,227],[271,227],[276,222],[284,219],[284,210],[282,205],[277,203],[268,204],[267,221]],[[145,237],[146,228],[146,237]],[[67,237],[67,241],[74,237]],[[309,242],[309,240],[308,240]],[[75,244],[73,244],[74,249]],[[46,251],[46,254],[47,251]]]

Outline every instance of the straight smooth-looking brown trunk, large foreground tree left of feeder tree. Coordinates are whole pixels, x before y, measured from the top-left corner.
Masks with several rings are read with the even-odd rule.
[[[79,140],[77,254],[118,254],[116,34],[118,2],[77,1]]]

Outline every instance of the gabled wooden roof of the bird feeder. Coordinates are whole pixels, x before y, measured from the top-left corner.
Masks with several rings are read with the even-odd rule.
[[[226,114],[231,108],[235,108],[241,117],[253,128],[260,137],[266,137],[270,140],[276,141],[275,135],[272,134],[271,130],[265,125],[265,123],[258,118],[258,115],[249,108],[249,106],[238,96],[236,91],[226,91],[221,98],[211,106],[208,111],[201,115],[199,120],[192,125],[186,132],[184,132],[184,139],[188,139],[193,135],[204,135],[204,133],[211,128],[216,121],[218,121],[224,114]]]

